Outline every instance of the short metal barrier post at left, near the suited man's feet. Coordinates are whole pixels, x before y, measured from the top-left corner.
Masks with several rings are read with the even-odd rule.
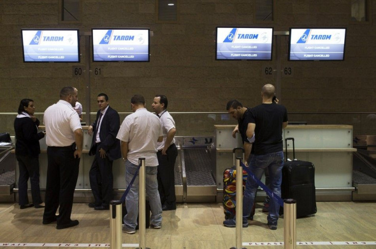
[[[110,249],[122,248],[122,202],[110,202]]]

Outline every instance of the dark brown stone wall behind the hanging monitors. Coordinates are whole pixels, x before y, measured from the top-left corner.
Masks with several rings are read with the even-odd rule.
[[[107,93],[111,106],[119,112],[130,111],[130,97],[135,93],[145,96],[149,110],[155,94],[168,96],[170,112],[223,112],[232,98],[245,106],[255,106],[261,103],[261,87],[275,84],[275,76],[267,76],[265,67],[276,68],[276,46],[281,49],[281,67],[291,67],[293,71],[291,76],[281,77],[278,96],[290,113],[374,112],[376,27],[372,20],[376,16],[371,14],[367,23],[351,22],[350,3],[278,0],[274,21],[257,22],[254,1],[182,0],[178,1],[178,21],[163,23],[156,21],[155,1],[82,0],[81,23],[69,24],[59,22],[57,0],[2,0],[1,112],[16,112],[20,99],[25,97],[33,98],[36,111],[43,112],[58,101],[59,91],[66,85],[78,88],[85,111],[85,79],[74,78],[72,67],[85,65],[85,57],[91,56],[85,54],[85,46],[90,44],[85,44],[81,37],[81,63],[23,63],[20,29],[78,28],[81,33],[88,33],[91,28],[101,27],[150,28],[154,35],[150,40],[149,63],[91,63],[91,68],[101,68],[102,73],[101,77],[93,73],[90,76],[91,112],[97,111],[99,92]],[[376,6],[370,3],[372,10]],[[274,27],[274,31],[288,31],[290,27],[346,27],[345,61],[289,62],[288,36],[281,36],[280,43],[274,43],[273,61],[216,61],[216,26],[267,26]],[[352,124],[359,133],[374,133],[374,123],[368,122],[367,116],[292,114],[289,119]],[[13,119],[14,116],[1,117],[0,130],[11,129]],[[192,119],[202,116],[182,118],[181,122]],[[211,129],[212,124],[204,130]],[[197,127],[202,129],[202,124]],[[192,129],[195,126],[180,132]],[[197,128],[197,132],[202,131]]]

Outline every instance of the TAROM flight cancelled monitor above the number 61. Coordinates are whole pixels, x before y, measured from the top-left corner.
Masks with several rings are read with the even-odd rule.
[[[93,62],[150,61],[149,29],[92,29]]]

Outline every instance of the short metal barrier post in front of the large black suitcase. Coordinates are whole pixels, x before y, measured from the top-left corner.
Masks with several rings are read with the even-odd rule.
[[[284,245],[285,249],[296,248],[296,201],[284,200]]]

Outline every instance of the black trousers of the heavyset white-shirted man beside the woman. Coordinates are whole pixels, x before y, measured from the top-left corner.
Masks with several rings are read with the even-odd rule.
[[[57,225],[70,222],[80,158],[74,157],[76,144],[47,148],[47,182],[43,220],[53,220],[57,209]]]

